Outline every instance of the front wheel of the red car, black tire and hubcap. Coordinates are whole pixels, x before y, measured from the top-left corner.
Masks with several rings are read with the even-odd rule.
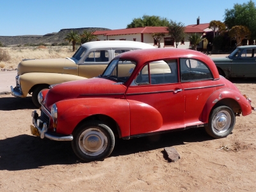
[[[108,157],[115,146],[113,131],[98,120],[86,122],[73,132],[72,148],[83,161],[100,161]]]

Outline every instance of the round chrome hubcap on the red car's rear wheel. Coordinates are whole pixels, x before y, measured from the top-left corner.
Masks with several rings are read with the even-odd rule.
[[[212,120],[214,131],[218,133],[226,132],[230,127],[230,124],[231,124],[231,116],[227,111],[218,112]]]

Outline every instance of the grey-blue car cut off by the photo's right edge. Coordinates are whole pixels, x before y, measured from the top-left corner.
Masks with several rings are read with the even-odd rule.
[[[256,77],[256,45],[237,47],[226,58],[212,58],[223,77]]]

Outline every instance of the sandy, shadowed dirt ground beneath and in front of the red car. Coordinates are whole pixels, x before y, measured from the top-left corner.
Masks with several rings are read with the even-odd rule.
[[[256,107],[256,80],[232,79]],[[84,163],[70,142],[30,133],[31,97],[0,95],[0,191],[256,191],[256,112],[238,116],[232,134],[204,128],[118,140],[104,161]],[[169,163],[164,147],[181,159]]]

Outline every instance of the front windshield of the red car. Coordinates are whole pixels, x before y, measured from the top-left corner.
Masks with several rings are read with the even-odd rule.
[[[131,76],[136,62],[131,60],[113,60],[102,74],[102,78],[125,83]]]

